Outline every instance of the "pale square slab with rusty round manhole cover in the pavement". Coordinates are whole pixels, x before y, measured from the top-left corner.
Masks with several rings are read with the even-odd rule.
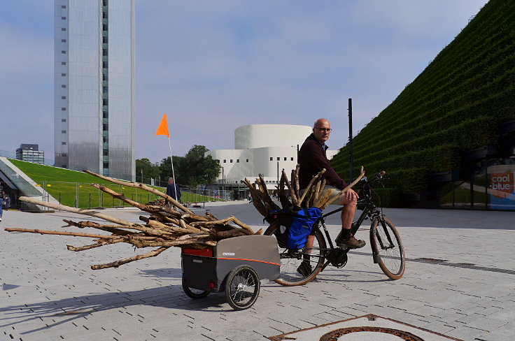
[[[368,314],[269,337],[272,341],[462,341],[400,321]]]

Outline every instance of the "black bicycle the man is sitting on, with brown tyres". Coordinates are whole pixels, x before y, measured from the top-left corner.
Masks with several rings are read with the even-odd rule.
[[[372,247],[372,257],[374,263],[392,280],[399,280],[404,275],[405,256],[404,247],[397,229],[390,222],[381,208],[374,205],[372,201],[372,184],[383,180],[385,172],[374,174],[371,180],[367,177],[355,185],[354,189],[360,194],[357,209],[362,213],[357,221],[353,222],[351,233],[355,233],[360,228],[365,219],[370,219],[370,246]],[[279,255],[281,258],[280,277],[275,280],[284,286],[297,286],[311,282],[329,264],[337,268],[343,268],[348,260],[347,253],[350,248],[334,247],[329,231],[325,226],[325,218],[343,210],[338,208],[322,215],[313,226],[312,234],[315,236],[311,250],[288,249],[282,242],[278,242]],[[278,228],[278,216],[272,222],[265,235],[274,235]],[[323,229],[320,229],[320,225]],[[327,247],[327,244],[329,247]]]

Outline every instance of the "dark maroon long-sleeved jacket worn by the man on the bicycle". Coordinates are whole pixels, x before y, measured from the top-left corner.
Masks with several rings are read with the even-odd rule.
[[[325,150],[327,150],[327,145],[318,142],[313,133],[306,138],[302,147],[300,147],[297,163],[300,164],[299,187],[301,189],[308,187],[313,176],[317,175],[323,168],[325,168],[325,173],[322,177],[328,185],[337,189],[344,189],[347,186],[347,183],[332,169],[325,155]]]

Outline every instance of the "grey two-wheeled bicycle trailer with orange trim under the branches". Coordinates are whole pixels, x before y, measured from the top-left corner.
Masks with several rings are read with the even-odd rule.
[[[183,289],[191,298],[225,291],[236,310],[251,307],[258,298],[260,280],[276,280],[281,261],[271,235],[227,238],[208,249],[183,249]]]

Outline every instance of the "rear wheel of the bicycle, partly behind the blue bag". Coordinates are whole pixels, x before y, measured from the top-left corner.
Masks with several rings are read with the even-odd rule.
[[[264,235],[274,235],[276,224],[272,224],[264,231]],[[311,282],[322,270],[325,261],[325,238],[322,231],[317,230],[313,241],[313,249],[306,252],[304,249],[287,249],[278,243],[281,258],[280,275],[276,283],[284,286],[297,286]]]

